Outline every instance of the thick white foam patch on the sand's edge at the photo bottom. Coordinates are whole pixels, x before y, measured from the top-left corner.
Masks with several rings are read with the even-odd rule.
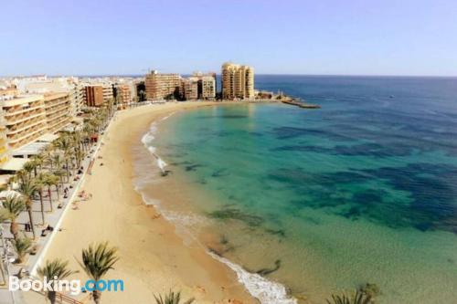
[[[216,258],[219,262],[224,263],[230,267],[237,274],[238,280],[245,288],[248,289],[250,294],[259,299],[261,304],[296,304],[297,300],[291,298],[287,294],[287,290],[279,283],[272,282],[266,278],[261,277],[256,273],[250,273],[243,267],[230,262],[225,257],[208,252],[211,257]]]

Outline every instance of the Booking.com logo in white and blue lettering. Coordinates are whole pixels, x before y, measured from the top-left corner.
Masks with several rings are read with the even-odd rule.
[[[58,279],[54,277],[49,279],[44,277],[43,280],[25,278],[19,279],[17,277],[9,277],[8,288],[10,291],[68,291],[72,296],[79,295],[80,292],[98,291],[123,291],[122,279],[93,279],[87,280],[84,285],[80,279]]]

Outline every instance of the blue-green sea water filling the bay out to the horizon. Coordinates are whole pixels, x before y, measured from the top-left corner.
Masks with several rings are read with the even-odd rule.
[[[322,109],[219,106],[156,122],[144,144],[170,174],[149,178],[196,191],[161,207],[263,303],[293,303],[285,290],[324,303],[366,283],[381,303],[457,302],[457,79],[259,76],[256,86]]]

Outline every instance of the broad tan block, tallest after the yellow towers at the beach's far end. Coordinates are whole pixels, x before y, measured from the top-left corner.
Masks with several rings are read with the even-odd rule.
[[[153,70],[146,75],[145,86],[148,100],[180,99],[182,96],[179,74],[160,74]]]

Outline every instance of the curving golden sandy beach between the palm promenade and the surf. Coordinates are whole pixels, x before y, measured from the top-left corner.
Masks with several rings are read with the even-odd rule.
[[[107,278],[123,279],[124,291],[103,292],[104,303],[153,303],[154,294],[169,289],[182,290],[185,299],[195,297],[197,303],[258,303],[239,284],[236,274],[208,256],[204,247],[185,245],[175,227],[153,206],[143,204],[133,188],[132,147],[141,144],[148,126],[175,110],[214,104],[167,103],[118,112],[103,139],[98,154],[102,159],[97,159],[81,189],[93,196],[79,203],[77,210],[69,210],[45,260],[69,260],[69,267],[80,271],[72,278],[85,280],[77,262],[81,248],[109,241],[118,247],[120,260]],[[45,303],[31,292],[25,298]],[[87,294],[79,297],[88,298]]]

